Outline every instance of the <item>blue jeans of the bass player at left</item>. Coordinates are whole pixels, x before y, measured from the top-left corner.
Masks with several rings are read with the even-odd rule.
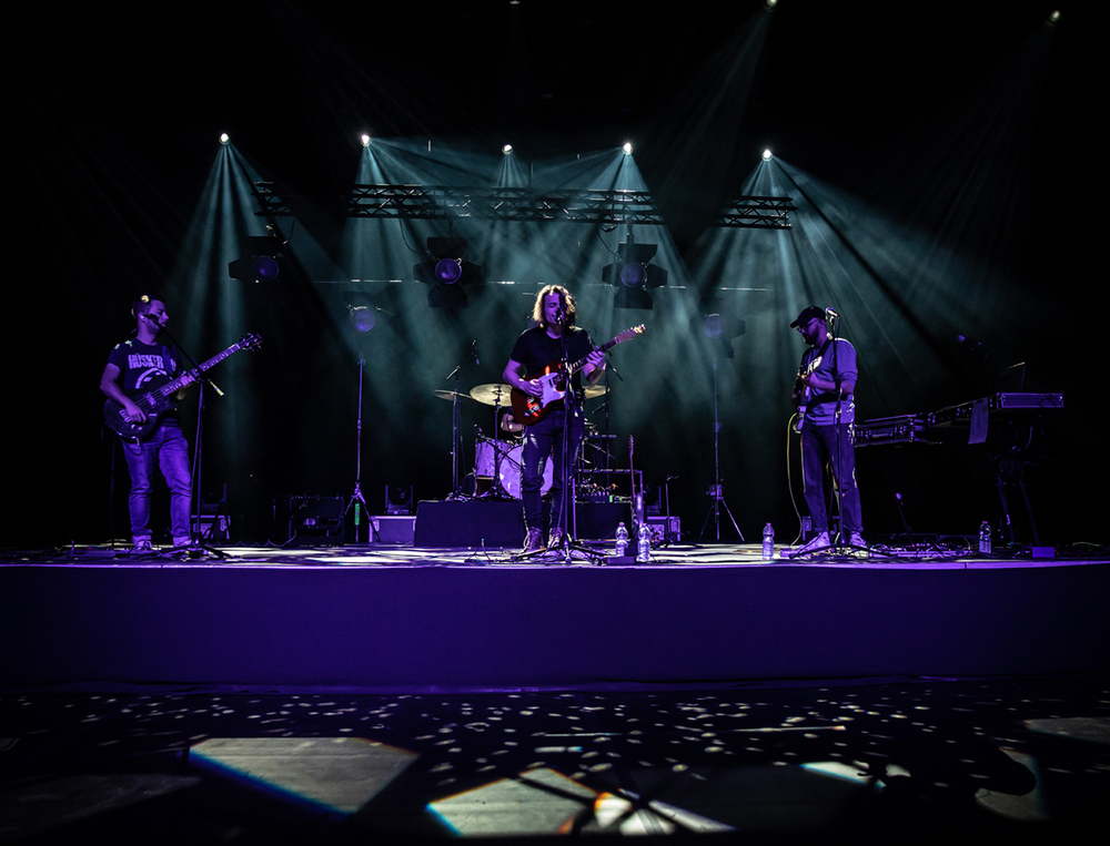
[[[176,420],[163,421],[150,439],[141,444],[123,442],[123,457],[131,473],[131,536],[134,542],[149,541],[150,492],[154,483],[155,462],[170,488],[170,533],[174,546],[189,542],[189,512],[192,500],[192,476],[189,469],[189,444]]]

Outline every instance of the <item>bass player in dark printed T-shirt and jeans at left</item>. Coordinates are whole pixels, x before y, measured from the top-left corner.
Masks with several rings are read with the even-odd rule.
[[[100,377],[100,389],[109,399],[123,407],[129,420],[143,422],[145,412],[132,400],[140,395],[179,377],[181,360],[173,350],[158,343],[158,334],[169,320],[165,305],[160,299],[143,296],[133,308],[138,330],[135,337],[118,344],[108,356],[108,364]],[[186,384],[193,381],[185,376]],[[181,430],[175,409],[165,412],[149,438],[138,442],[123,441],[123,456],[131,473],[131,512],[133,551],[151,552],[150,492],[154,481],[154,467],[162,471],[170,488],[170,532],[174,547],[188,546],[190,491],[189,444]]]

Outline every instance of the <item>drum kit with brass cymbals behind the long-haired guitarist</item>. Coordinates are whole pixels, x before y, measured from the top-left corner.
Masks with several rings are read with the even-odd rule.
[[[474,492],[480,498],[521,499],[521,469],[523,467],[524,442],[519,436],[524,426],[513,418],[509,396],[512,387],[492,383],[478,385],[467,391],[433,390],[432,395],[440,399],[456,402],[460,399],[471,399],[494,408],[494,431],[503,434],[503,438],[490,438],[478,432],[474,442]],[[604,396],[605,385],[588,385],[585,388],[587,399]],[[504,410],[504,414],[503,414]],[[591,437],[587,432],[587,438]],[[602,436],[594,436],[602,437]],[[544,468],[543,493],[551,490],[555,473],[552,456],[547,457]]]

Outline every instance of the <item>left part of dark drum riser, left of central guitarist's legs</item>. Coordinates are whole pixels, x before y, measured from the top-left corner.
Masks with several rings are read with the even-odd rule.
[[[524,543],[524,504],[440,502],[416,507],[417,547],[519,547]]]

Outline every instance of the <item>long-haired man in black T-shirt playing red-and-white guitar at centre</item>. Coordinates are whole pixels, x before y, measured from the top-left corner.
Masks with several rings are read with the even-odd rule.
[[[562,401],[553,402],[546,415],[524,429],[523,468],[521,473],[521,498],[524,500],[524,519],[528,534],[525,551],[541,549],[543,543],[542,497],[543,471],[547,457],[554,450],[555,461],[552,483],[551,541],[548,547],[557,547],[563,539],[563,491],[573,491],[574,471],[578,447],[585,434],[585,418],[582,411],[582,377],[596,383],[605,371],[605,354],[594,349],[589,333],[575,327],[577,309],[574,297],[562,285],[547,285],[536,295],[532,309],[532,320],[536,324],[516,339],[503,378],[517,390],[529,397],[541,397],[543,388],[537,377],[547,368],[561,364],[572,365],[586,360],[581,371],[575,373],[569,385],[569,419]],[[564,430],[566,430],[566,455],[563,453]],[[565,459],[565,460],[564,460]],[[568,471],[569,469],[569,471]],[[573,496],[573,495],[572,495]]]

